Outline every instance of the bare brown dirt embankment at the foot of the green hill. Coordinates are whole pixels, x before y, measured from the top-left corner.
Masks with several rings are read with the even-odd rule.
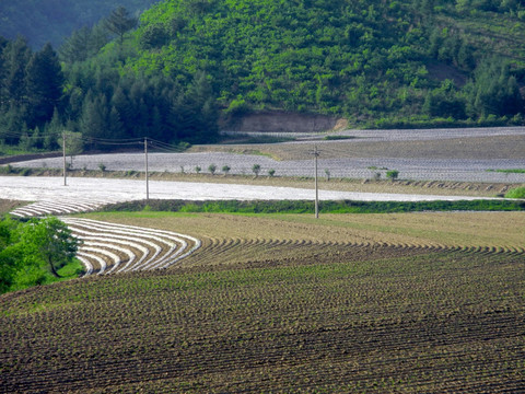
[[[221,125],[224,131],[319,132],[345,128],[345,119],[326,115],[289,112],[258,112],[243,115]]]

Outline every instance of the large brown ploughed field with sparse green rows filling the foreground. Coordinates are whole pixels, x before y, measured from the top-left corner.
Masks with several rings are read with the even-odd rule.
[[[0,392],[525,386],[523,212],[89,218],[203,247],[168,270],[0,297]]]

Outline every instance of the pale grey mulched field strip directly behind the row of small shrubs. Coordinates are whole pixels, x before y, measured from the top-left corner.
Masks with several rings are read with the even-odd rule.
[[[334,141],[330,141],[334,142]],[[254,164],[260,165],[260,174],[267,175],[270,169],[277,176],[312,176],[313,162],[311,160],[276,161],[271,158],[249,154],[234,154],[226,152],[202,153],[150,153],[149,169],[156,172],[195,173],[200,166],[208,172],[210,164],[215,164],[217,172],[221,173],[223,165],[230,166],[230,174],[253,175]],[[104,162],[108,171],[144,171],[144,155],[142,153],[114,153],[97,155],[81,155],[77,159],[77,167],[97,170],[98,163]],[[59,169],[60,158],[46,159],[46,166]],[[13,166],[40,167],[43,160],[15,163]],[[463,182],[525,182],[525,174],[488,172],[488,170],[525,169],[525,159],[396,159],[396,158],[340,158],[318,160],[319,176],[328,170],[334,177],[373,178],[374,174],[386,171],[373,170],[389,169],[399,171],[404,179],[415,181],[463,181]]]

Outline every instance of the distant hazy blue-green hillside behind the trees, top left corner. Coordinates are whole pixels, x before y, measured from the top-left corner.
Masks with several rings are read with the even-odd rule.
[[[55,47],[73,31],[92,26],[118,5],[141,12],[159,0],[2,0],[0,35],[14,39],[23,35],[33,48],[46,43]]]

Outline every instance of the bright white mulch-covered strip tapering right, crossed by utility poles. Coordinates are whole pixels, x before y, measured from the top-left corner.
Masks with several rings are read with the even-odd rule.
[[[69,186],[61,186],[60,182],[61,179],[58,177],[3,176],[0,177],[0,198],[25,201],[56,201],[57,204],[61,200],[68,201],[69,204],[75,199],[93,199],[97,201],[97,204],[104,201],[110,204],[145,198],[144,181],[71,178]],[[293,187],[150,181],[150,198],[185,200],[308,200],[314,198],[314,190]],[[483,198],[319,190],[319,199],[349,199],[360,201],[457,201]],[[27,208],[24,207],[22,209]]]

